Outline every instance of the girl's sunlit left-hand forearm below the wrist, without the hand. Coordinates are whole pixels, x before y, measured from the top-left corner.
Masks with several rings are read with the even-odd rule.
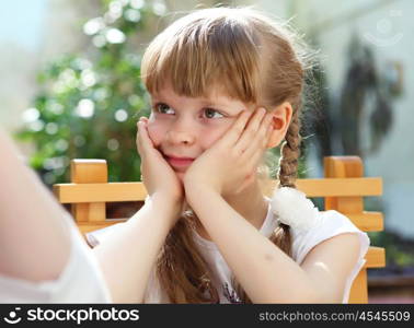
[[[180,213],[162,195],[94,248],[115,303],[142,303],[151,269]]]

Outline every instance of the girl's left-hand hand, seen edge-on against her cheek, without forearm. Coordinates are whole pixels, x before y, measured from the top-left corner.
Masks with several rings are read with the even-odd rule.
[[[183,185],[170,164],[153,147],[147,125],[148,118],[140,117],[137,124],[137,148],[141,157],[142,181],[147,192],[150,196],[160,195],[161,199],[172,201],[181,209],[184,200]]]

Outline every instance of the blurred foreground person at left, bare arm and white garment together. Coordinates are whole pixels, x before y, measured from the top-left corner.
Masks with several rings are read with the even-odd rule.
[[[0,303],[107,303],[72,218],[0,130]]]

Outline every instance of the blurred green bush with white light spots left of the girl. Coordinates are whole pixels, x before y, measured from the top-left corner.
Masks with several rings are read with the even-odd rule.
[[[16,138],[35,145],[30,164],[46,184],[68,181],[71,159],[105,159],[110,180],[139,179],[136,121],[149,106],[134,36],[161,10],[143,0],[102,1],[103,15],[83,25],[84,52],[61,56],[39,72]]]

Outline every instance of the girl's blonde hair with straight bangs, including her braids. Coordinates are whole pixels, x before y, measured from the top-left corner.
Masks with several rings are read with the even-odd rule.
[[[232,98],[274,108],[292,106],[292,118],[280,148],[277,178],[296,188],[300,156],[300,108],[306,51],[286,24],[244,8],[210,8],[179,19],[148,46],[141,78],[150,93],[166,81],[179,95],[209,96],[211,85]],[[218,303],[211,272],[193,239],[197,222],[185,215],[169,233],[157,260],[157,277],[172,303]],[[289,226],[280,224],[269,239],[291,256]],[[232,278],[243,303],[251,300]]]

